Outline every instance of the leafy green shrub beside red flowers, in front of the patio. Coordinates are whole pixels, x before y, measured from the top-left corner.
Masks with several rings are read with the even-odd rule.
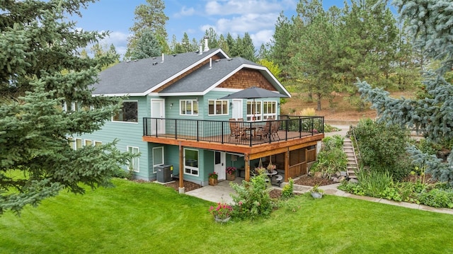
[[[268,217],[275,207],[275,202],[270,198],[268,178],[263,172],[251,178],[250,182],[242,181],[242,184],[230,183],[237,195],[231,194],[235,203],[233,217],[237,219],[258,219]]]

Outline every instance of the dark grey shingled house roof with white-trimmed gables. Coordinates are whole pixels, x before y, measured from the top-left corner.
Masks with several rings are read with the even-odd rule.
[[[202,96],[244,68],[260,71],[277,88],[277,91],[290,96],[268,68],[241,57],[229,58],[221,49],[212,49],[202,54],[188,52],[165,55],[164,61],[162,57],[153,57],[120,62],[101,71],[98,75],[98,83],[93,85],[93,95],[147,96],[214,56],[219,59],[213,59],[211,64],[205,64],[172,83],[171,86],[162,89],[159,91],[159,96]]]

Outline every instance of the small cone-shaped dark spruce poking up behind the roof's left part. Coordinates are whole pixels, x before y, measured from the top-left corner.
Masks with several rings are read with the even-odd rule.
[[[137,40],[137,45],[131,53],[132,59],[144,59],[149,57],[158,57],[162,53],[161,44],[154,36],[154,33],[146,29]]]

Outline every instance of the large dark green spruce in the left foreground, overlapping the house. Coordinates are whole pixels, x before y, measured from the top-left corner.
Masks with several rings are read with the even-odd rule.
[[[86,186],[110,185],[130,158],[115,144],[70,147],[69,137],[100,129],[120,108],[117,98],[91,96],[98,71],[115,57],[77,51],[108,34],[77,30],[64,17],[81,15],[89,2],[2,1],[0,213],[18,213],[62,189],[84,193]],[[63,104],[73,107],[66,111]]]

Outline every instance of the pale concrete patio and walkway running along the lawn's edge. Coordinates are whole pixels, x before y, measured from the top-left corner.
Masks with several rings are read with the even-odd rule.
[[[345,125],[333,125],[335,127],[338,127],[341,129],[340,132],[326,132],[325,135],[327,136],[332,136],[334,134],[340,134],[341,136],[345,136],[346,133],[349,131],[349,126]],[[234,180],[234,183],[242,183],[243,178],[236,178]],[[194,197],[199,197],[202,200],[208,200],[211,202],[226,202],[229,204],[233,204],[233,199],[231,198],[231,194],[234,194],[234,190],[230,187],[229,185],[230,181],[228,180],[223,180],[219,182],[216,186],[210,186],[207,185],[205,187],[200,187],[196,190],[192,190],[190,192],[185,192],[186,195],[194,196]],[[367,200],[370,202],[377,202],[377,203],[382,203],[382,204],[391,204],[395,205],[398,207],[406,207],[406,208],[411,208],[411,209],[420,209],[423,211],[429,211],[429,212],[439,212],[443,214],[452,214],[453,215],[453,209],[447,209],[447,208],[434,208],[434,207],[428,207],[423,204],[412,204],[412,203],[406,203],[406,202],[394,202],[391,200],[385,200],[382,198],[377,198],[377,197],[365,197],[365,196],[358,196],[358,195],[352,195],[348,192],[343,192],[343,190],[338,190],[338,185],[340,183],[336,183],[334,185],[325,185],[325,186],[320,186],[322,190],[324,190],[324,193],[326,195],[336,195],[339,197],[349,197],[349,198],[355,198],[357,200]],[[308,192],[311,189],[310,186],[304,186],[304,185],[294,185],[294,191],[304,193]]]

